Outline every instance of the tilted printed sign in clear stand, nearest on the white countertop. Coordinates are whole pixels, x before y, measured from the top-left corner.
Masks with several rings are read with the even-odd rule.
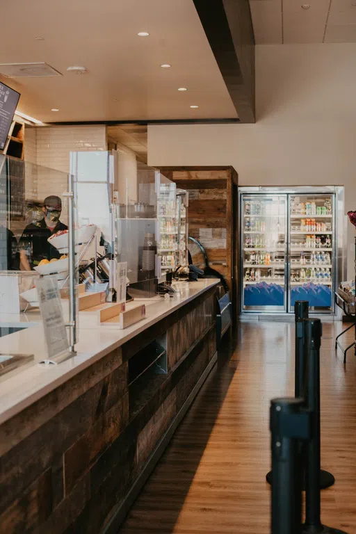
[[[48,357],[51,359],[69,349],[56,276],[41,277],[36,286]]]

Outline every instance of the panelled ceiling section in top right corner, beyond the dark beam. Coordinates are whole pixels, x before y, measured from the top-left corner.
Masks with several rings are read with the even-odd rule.
[[[250,8],[256,44],[356,42],[356,0],[250,0]]]

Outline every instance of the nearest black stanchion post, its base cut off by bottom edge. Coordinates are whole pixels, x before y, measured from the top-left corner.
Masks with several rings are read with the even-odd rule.
[[[309,414],[301,398],[270,402],[271,533],[300,534],[302,528],[302,472],[299,439],[309,437]]]

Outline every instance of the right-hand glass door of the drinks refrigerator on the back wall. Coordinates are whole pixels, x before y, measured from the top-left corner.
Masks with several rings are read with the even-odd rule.
[[[334,286],[334,195],[289,197],[289,311],[308,300],[312,312],[328,312]]]

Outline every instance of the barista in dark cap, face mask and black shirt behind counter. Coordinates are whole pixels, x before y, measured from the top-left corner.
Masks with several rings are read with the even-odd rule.
[[[42,259],[59,259],[60,252],[47,239],[66,230],[67,226],[60,222],[62,213],[62,201],[60,197],[50,195],[44,199],[42,206],[44,217],[38,223],[31,223],[24,229],[24,233],[19,241],[20,268],[31,270],[38,266]]]

